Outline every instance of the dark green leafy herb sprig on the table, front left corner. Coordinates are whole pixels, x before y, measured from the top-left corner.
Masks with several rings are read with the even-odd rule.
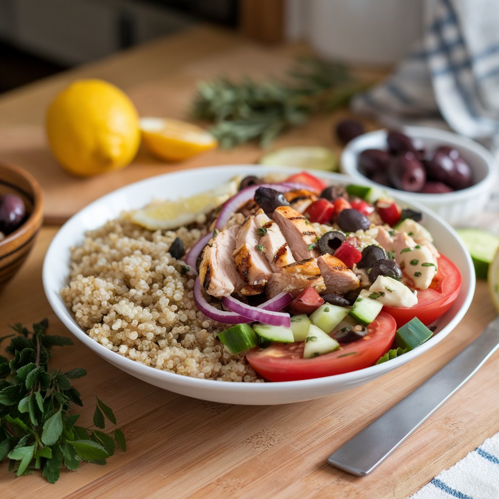
[[[17,334],[0,338],[10,338],[5,352],[11,357],[0,355],[0,462],[9,459],[9,470],[17,476],[41,470],[53,484],[63,467],[77,470],[81,461],[104,465],[116,445],[125,451],[121,430],[77,426],[79,415],[69,414],[71,403],[83,405],[71,380],[86,370],[48,371],[50,349],[72,345],[71,339],[46,334],[46,319],[33,324],[32,332],[21,324],[11,327]],[[115,425],[113,411],[96,399],[95,427],[104,429],[104,416]]]

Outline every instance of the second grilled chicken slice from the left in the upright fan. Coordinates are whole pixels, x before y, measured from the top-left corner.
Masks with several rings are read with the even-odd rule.
[[[260,245],[257,229],[259,228],[255,216],[248,218],[240,227],[236,236],[236,250],[234,251],[234,262],[236,268],[246,283],[239,290],[242,294],[259,294],[272,270]]]

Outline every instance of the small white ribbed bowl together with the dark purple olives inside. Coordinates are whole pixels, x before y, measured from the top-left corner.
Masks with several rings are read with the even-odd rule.
[[[485,147],[430,127],[362,134],[345,147],[341,169],[389,195],[423,203],[455,226],[484,209],[498,177]]]

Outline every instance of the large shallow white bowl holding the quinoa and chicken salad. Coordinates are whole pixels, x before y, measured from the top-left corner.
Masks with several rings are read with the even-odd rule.
[[[118,353],[91,339],[75,322],[71,312],[59,296],[59,290],[68,283],[70,248],[83,242],[84,232],[102,226],[107,220],[118,217],[122,210],[148,204],[152,198],[176,199],[211,189],[236,175],[262,175],[266,173],[291,174],[291,168],[264,168],[255,165],[233,165],[188,170],[153,177],[114,191],[93,202],[68,220],[55,235],[43,263],[43,286],[54,312],[64,325],[87,347],[104,360],[123,371],[152,385],[176,393],[214,402],[248,405],[285,404],[310,400],[353,388],[386,374],[418,355],[426,352],[445,338],[463,318],[475,291],[473,264],[454,230],[428,209],[417,204],[406,204],[424,213],[425,225],[435,236],[437,248],[449,256],[462,272],[463,285],[452,308],[437,322],[434,337],[423,345],[388,362],[336,376],[303,381],[279,383],[232,383],[191,378],[155,369]],[[328,181],[349,183],[344,175],[321,173]],[[116,373],[118,376],[118,373]]]

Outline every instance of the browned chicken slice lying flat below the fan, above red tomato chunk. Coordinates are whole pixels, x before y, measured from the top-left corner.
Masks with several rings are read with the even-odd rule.
[[[272,298],[282,291],[298,296],[303,289],[310,286],[318,293],[326,288],[317,261],[313,258],[290,263],[282,267],[279,272],[274,272],[265,289],[268,297]]]

